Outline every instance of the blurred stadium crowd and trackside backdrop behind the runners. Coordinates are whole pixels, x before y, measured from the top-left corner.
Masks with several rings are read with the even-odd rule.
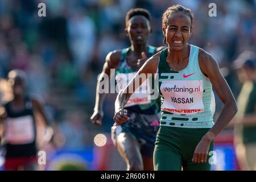
[[[38,16],[40,2],[46,3],[46,17]],[[211,2],[217,5],[217,17],[208,16]],[[163,46],[161,15],[174,4],[192,10],[195,24],[189,43],[213,55],[237,97],[240,83],[231,65],[243,51],[256,50],[255,0],[0,1],[1,101],[7,100],[4,79],[11,69],[25,71],[30,92],[44,97],[57,150],[51,146],[40,149],[47,151],[47,165],[42,169],[57,170],[64,163],[67,169],[126,168],[110,139],[114,94],[106,98],[102,127],[89,121],[97,76],[108,52],[130,46],[124,32],[128,10],[143,7],[150,11],[153,33],[149,43]],[[216,99],[216,117],[221,108]],[[213,170],[239,169],[232,128],[219,135],[215,150],[218,158]]]

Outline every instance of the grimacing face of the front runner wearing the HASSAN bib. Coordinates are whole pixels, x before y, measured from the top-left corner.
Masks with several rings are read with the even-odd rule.
[[[169,47],[176,51],[182,50],[191,35],[191,19],[183,12],[171,14],[163,32]]]

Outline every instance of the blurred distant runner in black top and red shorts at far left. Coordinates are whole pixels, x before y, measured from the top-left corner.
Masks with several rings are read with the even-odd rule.
[[[26,92],[26,73],[13,70],[8,77],[13,99],[3,105],[0,113],[5,170],[37,170],[38,145],[49,142],[53,130],[47,127],[45,135],[36,132],[38,127],[48,126],[48,120],[42,103]]]

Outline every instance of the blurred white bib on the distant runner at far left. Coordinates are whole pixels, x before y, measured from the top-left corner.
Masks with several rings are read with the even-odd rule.
[[[7,118],[5,123],[5,139],[8,143],[26,144],[34,141],[35,132],[31,115]]]

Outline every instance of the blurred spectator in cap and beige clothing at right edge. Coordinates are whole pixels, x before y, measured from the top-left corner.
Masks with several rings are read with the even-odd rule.
[[[242,170],[256,170],[256,61],[243,61],[238,71],[242,89],[237,98],[239,108],[235,120],[237,159]]]

